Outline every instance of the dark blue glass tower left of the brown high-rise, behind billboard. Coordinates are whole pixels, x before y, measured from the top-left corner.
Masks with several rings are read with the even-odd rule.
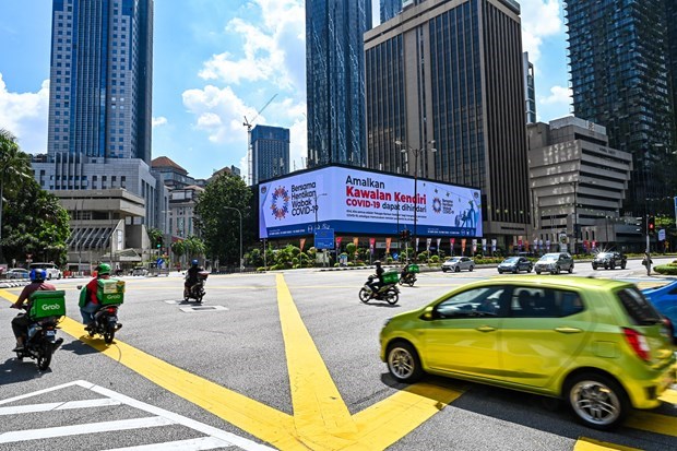
[[[365,55],[371,0],[306,1],[308,166],[366,165]]]

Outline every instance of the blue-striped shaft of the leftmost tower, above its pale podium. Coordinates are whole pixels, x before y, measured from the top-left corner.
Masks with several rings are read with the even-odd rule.
[[[151,162],[152,0],[54,0],[48,154]]]

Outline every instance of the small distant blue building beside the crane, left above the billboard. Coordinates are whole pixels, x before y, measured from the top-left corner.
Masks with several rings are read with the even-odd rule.
[[[289,174],[289,129],[257,126],[251,131],[252,185]]]

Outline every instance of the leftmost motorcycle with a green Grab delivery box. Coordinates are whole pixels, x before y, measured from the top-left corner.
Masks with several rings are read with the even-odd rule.
[[[44,295],[47,294],[47,295]],[[57,339],[57,324],[66,314],[66,299],[63,292],[37,292],[32,295],[31,310],[26,306],[22,309],[28,316],[31,324],[23,334],[24,347],[16,352],[16,358],[25,357],[36,360],[39,370],[49,368],[54,352],[61,346],[63,339]]]

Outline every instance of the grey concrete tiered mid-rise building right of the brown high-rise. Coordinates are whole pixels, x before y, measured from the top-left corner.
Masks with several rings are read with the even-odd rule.
[[[533,205],[532,244],[541,250],[568,245],[636,250],[634,217],[620,214],[628,197],[632,155],[609,146],[606,129],[575,117],[527,126]]]

